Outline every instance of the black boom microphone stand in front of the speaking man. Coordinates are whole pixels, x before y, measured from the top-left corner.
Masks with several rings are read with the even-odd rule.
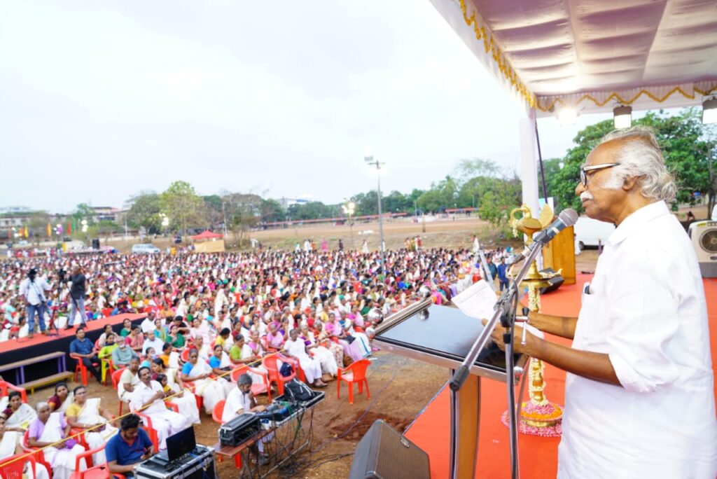
[[[511,437],[511,478],[518,479],[518,414],[516,410],[516,376],[513,369],[515,369],[515,359],[513,358],[513,330],[516,324],[516,310],[518,307],[518,288],[520,287],[523,278],[526,277],[528,269],[531,264],[538,256],[538,253],[543,249],[543,245],[540,242],[533,242],[533,248],[529,248],[530,252],[523,263],[523,267],[518,271],[518,274],[508,286],[508,289],[500,295],[498,302],[495,303],[495,313],[490,321],[485,324],[485,328],[480,332],[478,338],[475,339],[473,346],[465,356],[460,367],[455,371],[455,374],[450,380],[449,386],[453,391],[458,391],[468,375],[470,374],[470,368],[475,364],[475,360],[478,358],[480,351],[483,351],[485,345],[490,339],[490,334],[493,333],[495,326],[498,326],[498,320],[500,324],[505,328],[503,333],[503,342],[505,343],[505,384],[508,389],[508,430]]]

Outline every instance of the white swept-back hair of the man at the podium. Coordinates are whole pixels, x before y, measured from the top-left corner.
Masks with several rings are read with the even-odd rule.
[[[675,179],[665,166],[665,158],[652,128],[633,126],[605,135],[600,145],[618,141],[614,158],[619,166],[613,169],[613,179],[622,182],[627,176],[637,177],[642,196],[670,203],[677,195]]]

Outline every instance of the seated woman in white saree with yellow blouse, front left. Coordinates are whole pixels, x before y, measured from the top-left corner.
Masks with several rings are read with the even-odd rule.
[[[90,449],[105,445],[110,437],[117,434],[117,428],[110,424],[114,419],[110,412],[100,404],[99,397],[87,398],[87,388],[77,386],[73,391],[75,401],[67,407],[65,419],[67,424],[75,429],[85,430],[85,440]],[[92,462],[103,464],[105,451],[95,452],[92,455]]]

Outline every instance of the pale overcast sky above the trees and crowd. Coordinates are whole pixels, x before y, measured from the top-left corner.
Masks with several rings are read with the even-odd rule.
[[[461,158],[518,169],[520,106],[427,0],[0,3],[0,207],[122,207],[175,180],[325,203]],[[539,121],[543,157],[579,128]]]

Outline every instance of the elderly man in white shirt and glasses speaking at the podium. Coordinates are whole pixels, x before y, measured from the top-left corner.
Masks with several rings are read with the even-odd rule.
[[[610,133],[580,169],[585,212],[617,229],[579,317],[529,318],[572,348],[530,334],[516,343],[567,371],[559,478],[717,477],[705,293],[666,204],[675,190],[655,136],[641,128]],[[500,329],[493,340],[503,347]]]

